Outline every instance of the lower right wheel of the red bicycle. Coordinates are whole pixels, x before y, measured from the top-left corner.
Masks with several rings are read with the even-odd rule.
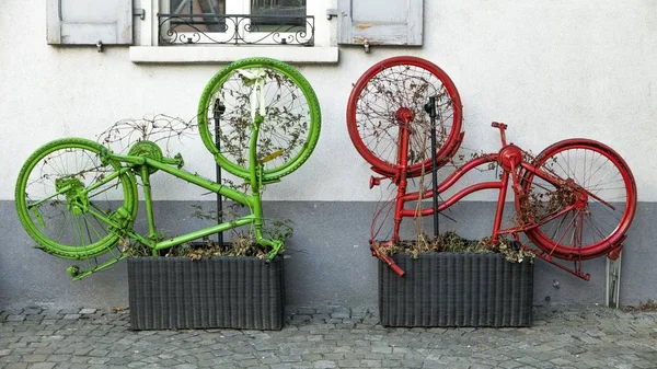
[[[549,220],[526,231],[538,247],[562,260],[587,260],[620,245],[636,210],[636,184],[621,155],[577,138],[550,146],[534,165],[563,183],[553,185],[529,171],[523,175],[525,204],[534,219]],[[554,217],[565,205],[574,208]]]

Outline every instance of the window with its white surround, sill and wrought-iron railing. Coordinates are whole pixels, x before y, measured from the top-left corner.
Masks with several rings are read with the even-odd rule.
[[[230,62],[263,56],[336,64],[334,0],[153,0],[136,18],[138,64]],[[333,45],[332,45],[333,44]]]

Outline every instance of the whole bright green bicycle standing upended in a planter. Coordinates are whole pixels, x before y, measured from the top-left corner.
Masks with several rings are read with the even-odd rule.
[[[198,128],[217,163],[244,178],[242,193],[183,170],[178,153],[141,140],[127,154],[82,138],[64,138],[41,147],[25,162],[15,188],[21,223],[37,247],[62,258],[89,260],[116,253],[124,240],[161,250],[232,228],[253,224],[256,242],[273,258],[281,240],[263,237],[261,191],[297,170],[313,151],[321,126],[314,91],[295,68],[268,58],[249,58],[221,69],[205,88]],[[220,148],[220,149],[219,149]],[[151,175],[158,171],[245,205],[250,214],[169,239],[158,237],[152,211]],[[138,180],[142,186],[148,235],[132,226],[137,218]],[[88,270],[68,268],[73,279],[103,269],[126,255],[120,251]]]

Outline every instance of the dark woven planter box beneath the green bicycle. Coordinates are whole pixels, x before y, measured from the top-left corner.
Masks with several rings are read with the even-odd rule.
[[[128,258],[132,330],[280,330],[283,257]]]

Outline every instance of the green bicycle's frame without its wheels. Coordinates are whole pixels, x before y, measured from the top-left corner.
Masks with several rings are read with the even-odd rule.
[[[263,117],[261,115],[256,115],[253,119],[252,124],[252,136],[250,140],[249,148],[249,163],[250,163],[250,184],[251,184],[251,195],[246,195],[233,188],[227,187],[208,178],[201,177],[196,174],[192,174],[187,171],[182,170],[183,159],[180,154],[175,158],[163,158],[162,160],[155,160],[148,157],[140,155],[120,155],[111,152],[110,150],[101,151],[100,155],[102,160],[113,160],[122,163],[126,163],[127,165],[122,165],[122,168],[105,176],[103,180],[95,182],[93,185],[87,187],[84,189],[85,194],[89,194],[93,189],[103,186],[104,184],[113,181],[119,175],[135,171],[137,174],[141,176],[141,182],[143,185],[143,199],[146,203],[146,215],[148,219],[148,237],[142,237],[141,234],[136,233],[131,228],[126,229],[126,227],[122,226],[120,221],[116,219],[110,219],[104,217],[103,215],[94,211],[93,209],[89,209],[89,211],[99,220],[107,223],[111,229],[118,233],[120,237],[128,237],[137,242],[140,242],[152,250],[153,255],[158,255],[159,251],[169,249],[185,242],[189,242],[193,240],[197,240],[214,233],[223,232],[229,229],[233,229],[241,226],[253,224],[255,228],[255,238],[256,242],[263,246],[272,247],[272,251],[267,254],[268,260],[274,258],[280,247],[283,246],[283,242],[280,240],[268,240],[263,237],[262,227],[263,227],[263,209],[262,209],[262,199],[261,199],[261,189],[263,186],[262,181],[262,170],[263,163],[257,162],[256,154],[256,142],[260,134],[260,125],[263,122]],[[139,145],[139,143],[137,143]],[[174,238],[159,240],[157,228],[155,228],[155,219],[153,215],[152,208],[152,195],[151,195],[151,185],[150,185],[150,175],[149,169],[160,170],[168,174],[171,174],[175,177],[178,177],[183,181],[208,189],[210,192],[217,193],[221,196],[230,198],[233,201],[240,203],[242,205],[247,206],[251,209],[251,214],[247,216],[239,217],[234,220],[222,222],[216,226],[207,227],[197,231],[193,231],[189,233],[181,234]],[[120,210],[117,214],[122,212]],[[124,211],[127,212],[127,211]],[[120,214],[118,215],[120,218]],[[131,223],[131,222],[130,222]],[[115,264],[122,258],[127,257],[125,254],[122,254],[119,257],[113,258],[108,262],[100,264],[94,268],[79,273],[74,276],[74,280],[83,278],[94,272],[108,267],[112,264]]]

